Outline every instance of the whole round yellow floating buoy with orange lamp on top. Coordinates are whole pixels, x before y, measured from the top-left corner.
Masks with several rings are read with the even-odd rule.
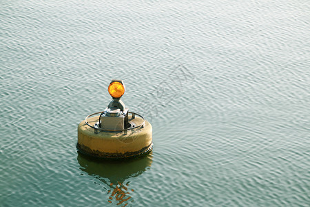
[[[113,79],[108,87],[112,101],[102,112],[88,115],[78,127],[79,152],[102,158],[143,155],[153,148],[152,125],[141,115],[125,108],[122,80]]]

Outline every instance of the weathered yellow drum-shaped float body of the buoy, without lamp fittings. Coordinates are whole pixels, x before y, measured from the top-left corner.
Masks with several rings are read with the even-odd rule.
[[[131,119],[131,117],[129,117]],[[99,120],[99,116],[88,119],[93,126]],[[143,119],[135,117],[130,120],[136,126],[143,123]],[[123,132],[94,132],[94,128],[81,121],[78,127],[78,147],[83,152],[98,157],[130,157],[138,155],[147,148],[152,147],[152,126],[145,121],[145,127]]]

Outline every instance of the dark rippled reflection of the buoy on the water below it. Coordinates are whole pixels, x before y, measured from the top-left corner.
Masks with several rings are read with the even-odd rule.
[[[107,187],[110,195],[107,202],[116,205],[127,206],[134,199],[130,193],[134,189],[130,188],[130,177],[137,177],[152,165],[152,152],[141,157],[125,160],[103,160],[94,159],[79,153],[77,160],[80,169],[88,175],[99,179]]]

